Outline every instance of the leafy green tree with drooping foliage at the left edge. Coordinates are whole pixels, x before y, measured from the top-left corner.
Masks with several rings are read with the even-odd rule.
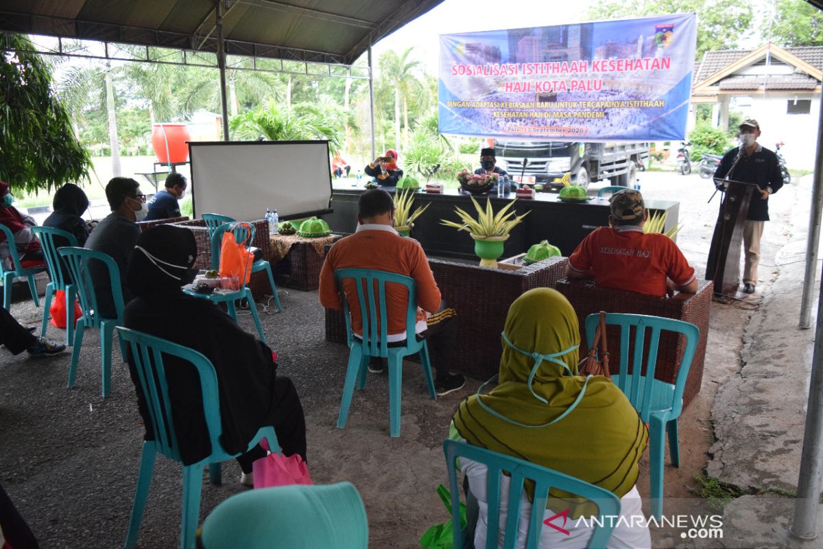
[[[26,193],[88,179],[89,154],[51,89],[51,68],[25,36],[0,55],[0,179]]]

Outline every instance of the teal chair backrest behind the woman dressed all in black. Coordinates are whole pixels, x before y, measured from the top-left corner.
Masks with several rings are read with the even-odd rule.
[[[220,415],[220,397],[217,393],[217,375],[212,362],[202,353],[128,328],[118,328],[119,336],[128,344],[128,349],[140,378],[146,407],[151,416],[151,428],[157,451],[167,458],[180,461],[177,435],[174,433],[174,421],[171,414],[169,386],[165,379],[163,356],[176,356],[190,362],[200,377],[200,391],[203,400],[203,416],[206,418],[209,440],[212,443],[212,456],[215,461],[225,461],[231,456],[223,454],[220,437],[223,432]]]

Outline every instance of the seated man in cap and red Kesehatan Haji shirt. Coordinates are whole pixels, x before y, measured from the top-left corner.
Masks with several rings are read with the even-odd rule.
[[[569,258],[566,276],[594,278],[597,286],[663,297],[695,293],[697,278],[674,240],[643,232],[649,217],[639,191],[611,195],[608,227],[593,230]]]

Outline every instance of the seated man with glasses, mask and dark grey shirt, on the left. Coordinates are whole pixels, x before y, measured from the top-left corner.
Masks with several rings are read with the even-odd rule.
[[[86,248],[95,249],[111,256],[120,271],[120,286],[123,303],[132,299],[126,286],[126,268],[132,255],[134,244],[140,236],[140,227],[135,221],[146,217],[146,195],[140,192],[140,185],[128,177],[115,177],[105,186],[105,198],[109,201],[111,213],[91,231]],[[91,263],[91,280],[97,291],[97,305],[105,319],[114,319],[117,311],[111,295],[109,273],[99,261]]]

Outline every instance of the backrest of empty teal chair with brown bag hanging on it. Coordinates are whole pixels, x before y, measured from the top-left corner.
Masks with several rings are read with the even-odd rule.
[[[598,323],[600,323],[600,314],[589,314],[586,317],[586,341],[594,341],[594,332]],[[695,356],[695,348],[700,339],[700,328],[683,320],[627,313],[607,313],[606,326],[607,332],[609,326],[620,328],[620,378],[617,380],[617,386],[629,398],[629,402],[639,412],[643,421],[649,421],[649,412],[656,396],[654,395],[655,384],[645,383],[645,380],[654,379],[660,333],[667,330],[686,337],[686,347],[680,368],[677,370],[672,402],[672,412],[675,417],[679,416],[683,407],[683,388],[686,386],[691,359]],[[649,332],[648,343],[647,332]],[[609,347],[612,346],[609,345]],[[612,361],[611,364],[614,362]],[[631,373],[629,373],[629,365],[631,365]]]

